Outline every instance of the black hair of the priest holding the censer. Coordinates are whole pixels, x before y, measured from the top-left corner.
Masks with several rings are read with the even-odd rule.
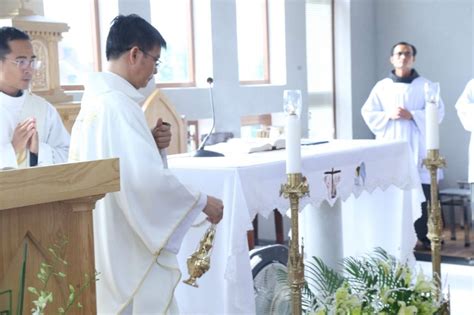
[[[112,20],[105,55],[117,59],[134,46],[148,52],[157,45],[166,48],[166,41],[153,25],[136,14],[119,15]]]

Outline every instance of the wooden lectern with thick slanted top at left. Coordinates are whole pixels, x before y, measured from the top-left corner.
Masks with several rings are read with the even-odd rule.
[[[84,274],[94,277],[95,202],[118,190],[118,159],[0,171],[0,292],[11,292],[10,297],[0,300],[0,311],[2,307],[7,309],[7,303],[11,304],[12,314],[17,314],[20,274],[26,261],[23,313],[31,314],[32,300],[36,298],[27,288],[41,288],[37,279],[41,262],[57,265],[48,248],[59,237],[68,240],[68,264],[57,266],[66,277],[50,279],[48,289],[53,291],[54,299],[46,314],[58,314],[58,307],[67,305],[68,285],[78,289],[84,283]],[[96,314],[94,281],[79,301],[83,308],[73,308],[68,314]]]

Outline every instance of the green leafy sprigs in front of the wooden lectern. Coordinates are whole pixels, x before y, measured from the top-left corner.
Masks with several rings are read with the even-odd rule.
[[[48,248],[48,252],[53,258],[53,261],[55,261],[59,266],[68,265],[68,262],[64,259],[67,244],[67,238],[65,236],[60,236],[59,240]],[[28,291],[36,296],[36,300],[33,300],[33,304],[35,307],[31,309],[31,312],[34,315],[43,315],[45,313],[46,307],[48,306],[48,303],[53,302],[53,292],[49,291],[48,289],[48,283],[50,279],[52,277],[56,277],[60,281],[65,281],[66,274],[63,271],[56,269],[55,266],[48,265],[47,263],[42,262],[40,264],[39,272],[36,276],[42,285],[41,288],[28,287]],[[80,298],[84,290],[90,286],[92,281],[99,280],[97,277],[97,272],[95,273],[94,278],[92,279],[88,274],[84,274],[84,281],[79,286],[79,288],[75,288],[73,285],[69,284],[69,295],[67,304],[58,307],[57,313],[66,314],[73,307],[82,308],[82,304],[78,301],[78,299]]]

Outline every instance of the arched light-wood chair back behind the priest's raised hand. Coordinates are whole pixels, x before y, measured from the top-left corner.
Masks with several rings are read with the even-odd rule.
[[[160,90],[155,90],[145,100],[142,109],[150,129],[156,125],[158,118],[171,124],[172,138],[168,147],[168,154],[184,153],[187,151],[186,124]]]

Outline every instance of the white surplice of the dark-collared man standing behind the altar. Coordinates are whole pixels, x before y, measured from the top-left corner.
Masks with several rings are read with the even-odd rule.
[[[410,144],[415,164],[423,184],[430,183],[430,174],[423,166],[426,157],[426,124],[424,85],[429,80],[417,77],[411,83],[394,82],[385,78],[374,86],[362,106],[361,113],[369,129],[377,139],[404,140]],[[404,107],[412,120],[389,118],[397,107]],[[439,122],[444,117],[444,104],[440,99],[438,106]],[[387,165],[387,167],[390,167]],[[438,179],[442,177],[439,170]]]

